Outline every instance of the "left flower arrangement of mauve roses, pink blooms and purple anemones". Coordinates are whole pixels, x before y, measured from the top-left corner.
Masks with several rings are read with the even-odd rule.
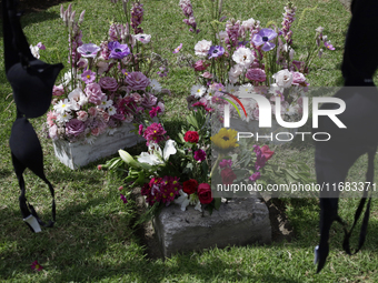
[[[166,77],[168,62],[152,52],[151,36],[140,27],[143,4],[136,2],[129,9],[129,1],[112,2],[121,4],[127,21],[112,22],[99,46],[82,42],[84,11],[77,20],[71,4],[66,11],[61,6],[69,36],[69,71],[53,87],[53,109],[47,115],[52,140],[92,143],[123,123],[153,119],[165,111],[161,95],[169,91],[151,77]]]

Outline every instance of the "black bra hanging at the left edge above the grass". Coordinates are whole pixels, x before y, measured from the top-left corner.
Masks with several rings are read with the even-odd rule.
[[[51,228],[56,221],[54,191],[43,173],[42,148],[28,118],[41,117],[49,109],[52,88],[63,65],[48,64],[31,54],[20,24],[21,14],[17,11],[16,0],[3,0],[2,12],[6,74],[12,87],[17,105],[17,119],[9,144],[21,189],[19,201],[23,220],[33,232],[40,232],[40,225]],[[48,224],[38,218],[32,205],[27,204],[22,176],[27,168],[41,178],[50,189],[53,221]]]

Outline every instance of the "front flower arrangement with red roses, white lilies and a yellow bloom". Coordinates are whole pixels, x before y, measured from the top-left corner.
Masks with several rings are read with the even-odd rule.
[[[125,184],[119,186],[127,191],[120,193],[123,203],[131,189],[141,188],[149,206],[141,222],[171,203],[179,204],[182,211],[193,205],[199,212],[207,209],[211,213],[222,200],[213,196],[217,184],[267,184],[277,175],[291,178],[290,181],[309,181],[306,164],[298,168],[288,162],[286,169],[280,169],[268,162],[275,154],[268,145],[238,142],[237,131],[232,129],[222,128],[211,135],[210,125],[210,114],[202,107],[190,112],[175,139],[167,135],[162,123],[141,123],[138,133],[147,140],[148,150],[137,156],[119,150],[119,158],[100,165],[101,170],[127,174]],[[299,173],[292,179],[289,171],[294,168]]]

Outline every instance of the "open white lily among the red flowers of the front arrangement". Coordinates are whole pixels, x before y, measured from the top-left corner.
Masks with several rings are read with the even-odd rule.
[[[173,140],[168,140],[166,142],[165,149],[161,151],[158,144],[151,144],[148,146],[148,152],[142,152],[138,161],[140,163],[148,163],[150,165],[159,165],[165,163],[170,155],[176,154],[177,150],[175,148],[176,142]]]

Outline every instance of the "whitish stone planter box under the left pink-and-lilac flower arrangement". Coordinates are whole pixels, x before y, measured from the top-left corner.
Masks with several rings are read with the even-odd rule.
[[[109,135],[99,135],[93,144],[82,144],[80,142],[70,143],[63,140],[53,141],[56,156],[61,163],[74,170],[84,166],[98,159],[117,153],[118,150],[130,148],[138,142],[146,141],[142,137],[130,133],[133,130],[132,123],[125,123],[117,128],[117,131]]]

